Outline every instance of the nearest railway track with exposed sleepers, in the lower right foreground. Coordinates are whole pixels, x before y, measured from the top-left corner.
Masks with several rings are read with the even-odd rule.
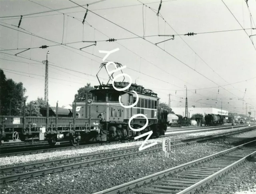
[[[194,194],[256,156],[256,140],[94,194]]]

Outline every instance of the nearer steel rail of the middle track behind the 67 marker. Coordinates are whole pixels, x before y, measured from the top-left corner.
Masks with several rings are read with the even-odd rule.
[[[254,127],[254,128],[256,128],[256,127]],[[249,128],[247,130],[252,130],[254,128]],[[241,131],[244,132],[245,130],[246,129],[240,130],[240,132]],[[233,135],[233,134],[240,133],[240,132],[236,131],[236,132],[227,132],[227,133],[229,133],[229,135]],[[227,135],[228,134],[226,134],[226,136]],[[222,137],[222,136],[223,135],[218,136],[218,137]],[[179,146],[194,144],[194,143],[199,142],[199,141],[210,140],[210,139],[213,139],[213,138],[217,138],[217,137],[211,137],[211,138],[206,138],[206,139],[202,139],[202,140],[196,140],[196,141],[186,142],[186,143],[181,143],[181,144],[174,144],[174,145],[171,145],[171,147],[179,147]],[[138,147],[137,148],[129,148],[129,149],[138,149]],[[103,163],[103,162],[110,162],[110,161],[114,161],[116,159],[120,160],[122,158],[130,158],[131,156],[139,156],[139,155],[145,154],[145,153],[152,153],[152,152],[156,152],[156,151],[161,150],[161,149],[162,149],[162,147],[154,148],[154,149],[150,149],[150,150],[139,151],[139,152],[132,152],[132,153],[129,153],[129,154],[122,154],[122,155],[119,155],[119,156],[110,156],[110,157],[107,157],[107,158],[101,158],[101,159],[90,160],[90,161],[85,161],[85,162],[78,162],[78,163],[75,163],[75,164],[68,164],[68,165],[57,166],[57,167],[52,167],[52,168],[47,168],[47,169],[42,169],[42,170],[36,170],[36,171],[31,171],[31,172],[24,172],[24,173],[21,173],[21,174],[3,176],[3,177],[0,177],[0,183],[6,183],[6,182],[21,180],[21,179],[30,178],[30,177],[34,178],[34,176],[41,176],[41,175],[44,176],[45,174],[60,172],[60,171],[64,171],[64,170],[70,170],[70,169],[74,169],[74,168],[81,168],[83,166],[90,166],[92,164],[100,164],[100,163]],[[120,150],[120,151],[122,151],[122,150]],[[116,151],[113,151],[113,152],[116,152]],[[104,153],[101,153],[101,154],[104,154]],[[96,155],[96,154],[92,154],[92,155]],[[81,157],[84,157],[84,156],[79,156],[78,158],[81,158]],[[87,157],[87,156],[85,156],[85,157]],[[69,159],[66,158],[66,159],[61,159],[61,160],[69,160]],[[52,161],[50,161],[50,162],[52,162]],[[42,165],[42,163],[40,165]],[[12,167],[12,168],[15,168],[15,167]]]

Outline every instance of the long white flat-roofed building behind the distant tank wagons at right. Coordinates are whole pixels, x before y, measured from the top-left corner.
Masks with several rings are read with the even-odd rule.
[[[175,112],[175,114],[180,114],[181,116],[185,116],[185,107],[174,107],[172,108],[172,111]],[[226,115],[228,116],[228,111],[224,109],[218,109],[218,108],[201,108],[201,107],[194,107],[191,108],[188,107],[188,118],[191,118],[193,114],[200,113],[203,116],[205,114],[220,114],[220,115]]]

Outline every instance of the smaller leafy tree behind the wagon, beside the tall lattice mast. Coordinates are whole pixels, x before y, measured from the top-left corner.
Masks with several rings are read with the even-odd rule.
[[[40,110],[46,108],[46,101],[43,98],[37,98],[37,100],[30,101],[26,106],[26,116],[30,116],[30,106],[31,106],[31,116],[42,116]],[[50,105],[49,105],[50,107]]]

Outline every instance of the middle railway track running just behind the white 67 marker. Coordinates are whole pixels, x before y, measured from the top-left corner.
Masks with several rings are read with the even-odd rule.
[[[222,134],[201,136],[201,137],[189,138],[185,140],[178,140],[178,141],[172,142],[173,145],[171,145],[171,147],[174,148],[179,146],[185,146],[185,145],[194,144],[200,141],[212,140],[214,138],[220,138],[223,136],[230,136],[230,135],[246,132],[248,130],[253,130],[253,129],[256,129],[256,127],[238,130],[236,132],[226,132]],[[183,143],[180,143],[180,142],[183,142]],[[57,160],[41,161],[36,163],[29,163],[29,164],[0,168],[0,172],[1,172],[0,183],[6,183],[6,182],[21,180],[21,179],[30,178],[30,177],[33,178],[34,176],[41,176],[41,175],[44,176],[46,174],[50,174],[53,172],[60,172],[63,170],[70,170],[73,168],[80,168],[83,166],[89,166],[93,164],[99,164],[102,162],[119,160],[122,158],[130,158],[131,156],[142,155],[150,152],[159,152],[160,150],[162,150],[162,143],[155,145],[154,148],[150,150],[138,151],[138,148],[139,147],[128,148],[128,149],[117,150],[117,151],[103,152],[103,153],[97,153],[97,154],[87,154],[83,156],[74,156],[70,158],[62,158]],[[117,154],[121,154],[121,155],[117,155]],[[91,158],[93,160],[90,160]],[[46,166],[50,168],[45,168]]]

